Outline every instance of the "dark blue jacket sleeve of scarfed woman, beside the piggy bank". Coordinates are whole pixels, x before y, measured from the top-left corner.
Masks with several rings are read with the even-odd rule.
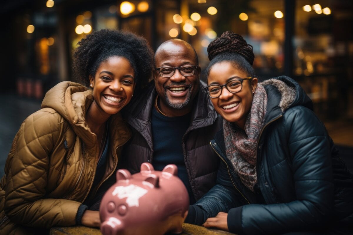
[[[217,173],[217,184],[194,205],[189,206],[185,223],[201,225],[207,218],[215,217],[221,211],[228,212],[231,208],[243,205],[244,202],[240,202],[239,198],[242,196],[234,188],[227,166],[221,161]]]

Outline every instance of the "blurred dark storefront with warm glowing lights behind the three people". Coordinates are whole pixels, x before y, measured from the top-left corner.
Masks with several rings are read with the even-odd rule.
[[[352,12],[351,0],[8,0],[0,10],[2,89],[41,99],[74,80],[72,51],[92,30],[129,29],[154,49],[184,39],[202,68],[208,44],[232,30],[253,45],[258,76],[291,76],[321,119],[352,120]]]

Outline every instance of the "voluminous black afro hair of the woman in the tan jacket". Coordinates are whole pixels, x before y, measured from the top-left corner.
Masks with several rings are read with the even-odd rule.
[[[135,73],[135,91],[151,77],[153,51],[145,38],[132,32],[102,29],[87,35],[78,45],[73,54],[73,69],[85,86],[89,85],[89,76],[94,77],[100,64],[112,56],[130,62]]]

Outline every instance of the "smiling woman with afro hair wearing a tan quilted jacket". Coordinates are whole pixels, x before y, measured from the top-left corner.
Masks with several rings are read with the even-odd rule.
[[[20,126],[1,179],[0,234],[100,226],[88,207],[131,136],[120,110],[148,82],[153,52],[127,31],[96,31],[78,45],[73,68],[89,88],[60,82]]]

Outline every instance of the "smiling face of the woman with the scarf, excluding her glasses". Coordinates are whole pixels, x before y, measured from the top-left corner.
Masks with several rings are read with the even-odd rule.
[[[248,75],[234,68],[231,62],[222,61],[214,64],[209,70],[208,85],[226,84],[229,80],[247,78]],[[243,88],[240,92],[231,93],[225,87],[218,98],[210,98],[217,111],[228,122],[235,122],[240,128],[244,129],[247,113],[250,111],[253,91],[257,86],[257,79],[244,80]]]

